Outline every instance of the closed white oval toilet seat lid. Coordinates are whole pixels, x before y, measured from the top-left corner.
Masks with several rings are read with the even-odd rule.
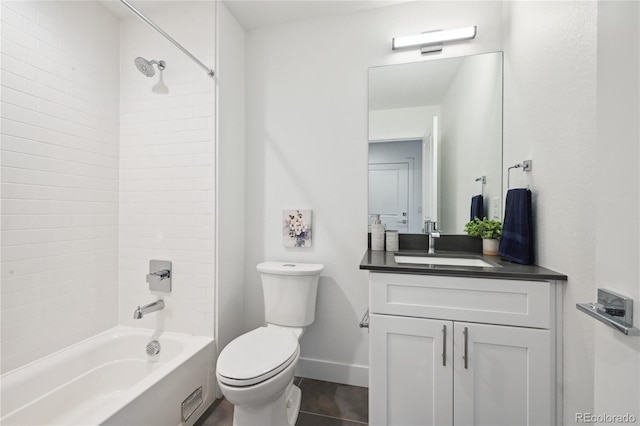
[[[298,356],[296,336],[286,329],[259,327],[229,343],[220,354],[218,380],[231,386],[251,386],[277,375]]]

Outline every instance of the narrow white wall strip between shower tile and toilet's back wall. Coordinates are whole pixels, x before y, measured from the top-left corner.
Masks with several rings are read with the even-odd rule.
[[[218,3],[218,155],[216,342],[218,350],[244,332],[245,34]]]

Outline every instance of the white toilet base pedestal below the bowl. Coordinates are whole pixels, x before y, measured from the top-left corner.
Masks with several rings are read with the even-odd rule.
[[[261,404],[236,405],[233,411],[233,426],[294,426],[300,412],[302,391],[289,383],[284,392],[275,399]]]

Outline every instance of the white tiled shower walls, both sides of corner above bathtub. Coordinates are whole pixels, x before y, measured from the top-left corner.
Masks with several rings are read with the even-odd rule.
[[[213,2],[159,4],[213,65]],[[167,62],[162,93],[137,56]],[[3,1],[1,67],[2,372],[118,323],[213,336],[213,80],[89,1]],[[174,290],[134,321],[150,259]]]

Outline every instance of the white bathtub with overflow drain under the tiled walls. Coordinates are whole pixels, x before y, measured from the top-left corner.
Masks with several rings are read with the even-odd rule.
[[[214,366],[213,339],[116,327],[2,375],[0,424],[192,425]]]

